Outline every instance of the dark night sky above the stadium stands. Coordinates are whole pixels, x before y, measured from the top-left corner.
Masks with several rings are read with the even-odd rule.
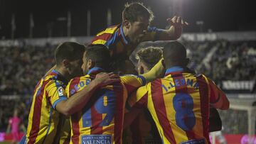
[[[90,35],[107,27],[107,9],[112,11],[112,24],[121,23],[121,13],[125,0],[0,0],[0,38],[11,38],[11,15],[16,16],[14,38],[28,38],[29,14],[33,13],[33,37],[48,37],[48,28],[52,27],[52,36],[66,36],[67,22],[57,21],[66,17],[70,11],[72,17],[71,35],[82,36],[87,33],[87,10],[91,11]],[[253,1],[241,0],[141,0],[154,12],[152,26],[165,28],[166,18],[175,14],[190,23],[185,33],[216,31],[255,31],[256,9]],[[173,4],[181,3],[181,11],[172,9]],[[170,9],[171,8],[171,9]],[[203,21],[203,26],[196,25]]]

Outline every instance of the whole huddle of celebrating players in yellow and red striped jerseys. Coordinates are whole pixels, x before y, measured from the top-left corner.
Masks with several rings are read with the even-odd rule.
[[[210,109],[228,109],[229,101],[187,67],[186,48],[176,40],[188,23],[174,16],[159,29],[149,26],[153,18],[132,2],[122,23],[90,45],[58,45],[55,67],[34,90],[20,143],[210,143],[209,132],[221,127],[210,121]],[[129,55],[137,45],[156,40],[173,41],[139,50],[134,66]]]

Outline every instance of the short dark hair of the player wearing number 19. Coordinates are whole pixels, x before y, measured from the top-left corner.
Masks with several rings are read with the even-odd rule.
[[[88,45],[85,52],[87,60],[95,62],[96,67],[109,70],[110,67],[110,50],[105,45]]]

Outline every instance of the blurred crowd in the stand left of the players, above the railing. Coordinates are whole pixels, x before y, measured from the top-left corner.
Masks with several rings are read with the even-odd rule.
[[[30,95],[54,63],[54,45],[0,48],[1,95]]]

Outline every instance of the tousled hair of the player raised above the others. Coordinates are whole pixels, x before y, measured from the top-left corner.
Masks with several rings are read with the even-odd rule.
[[[149,18],[149,23],[154,19],[153,12],[150,9],[147,9],[142,3],[132,2],[124,5],[122,21],[128,20],[133,23],[134,21],[137,21],[140,16]]]

